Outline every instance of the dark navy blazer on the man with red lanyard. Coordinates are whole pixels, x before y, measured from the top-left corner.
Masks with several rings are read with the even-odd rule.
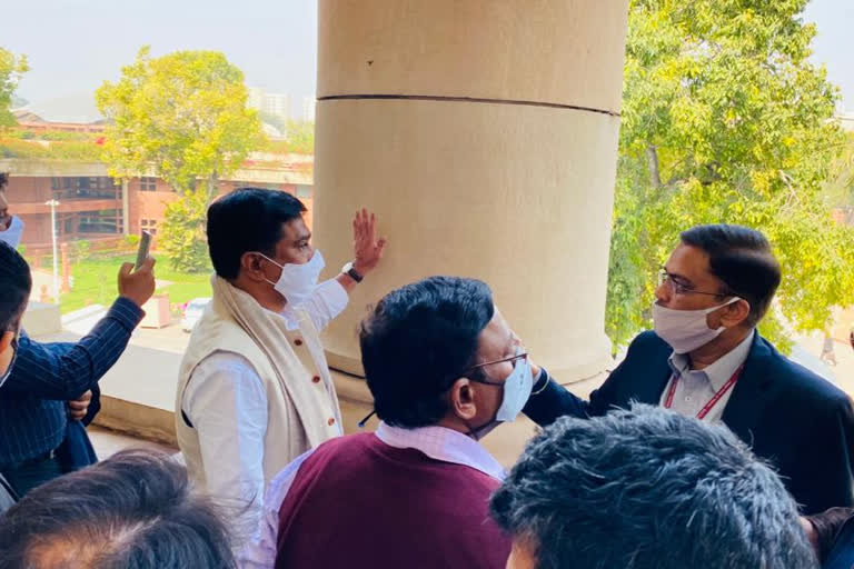
[[[524,412],[546,426],[564,415],[594,417],[627,408],[632,401],[658,405],[672,375],[667,361],[672,352],[655,332],[643,332],[589,401],[552,381],[532,396]],[[804,513],[854,506],[851,399],[758,333],[722,420],[774,466]]]

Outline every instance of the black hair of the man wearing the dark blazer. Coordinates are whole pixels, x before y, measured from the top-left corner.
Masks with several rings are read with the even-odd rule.
[[[712,274],[751,305],[746,323],[756,326],[767,312],[779,286],[779,263],[764,234],[743,226],[697,226],[684,231],[682,242],[708,254]]]

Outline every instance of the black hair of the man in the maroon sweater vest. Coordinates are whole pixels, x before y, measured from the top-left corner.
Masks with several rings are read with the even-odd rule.
[[[359,333],[377,416],[410,429],[445,417],[445,392],[474,363],[494,315],[489,287],[474,279],[430,277],[383,298]]]

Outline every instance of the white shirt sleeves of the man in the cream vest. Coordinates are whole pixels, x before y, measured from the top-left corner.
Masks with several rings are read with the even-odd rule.
[[[349,297],[330,279],[320,283],[299,308],[322,330],[347,308]],[[281,315],[289,330],[299,328],[292,310]],[[265,491],[264,438],[267,392],[249,361],[232,352],[215,352],[192,371],[181,411],[199,433],[208,492],[220,503],[244,509],[237,537],[255,530]]]

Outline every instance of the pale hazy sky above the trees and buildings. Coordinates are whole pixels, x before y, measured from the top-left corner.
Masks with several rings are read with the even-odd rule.
[[[18,94],[53,120],[95,119],[95,89],[146,43],[156,56],[224,51],[248,86],[289,93],[296,112],[315,92],[316,10],[315,0],[19,0],[3,6],[0,46],[27,53]],[[854,111],[854,0],[813,0],[805,19],[818,26],[815,61]]]

